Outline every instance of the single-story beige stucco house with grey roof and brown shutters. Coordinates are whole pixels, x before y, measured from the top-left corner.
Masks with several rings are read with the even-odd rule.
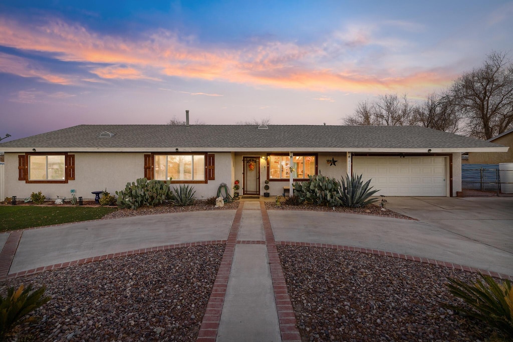
[[[241,182],[241,195],[271,195],[322,173],[372,178],[387,196],[455,196],[462,152],[507,147],[416,126],[80,125],[0,144],[6,196],[42,191],[49,198],[92,198],[137,178],[172,177],[198,198],[221,183]],[[292,162],[292,164],[290,164]]]

